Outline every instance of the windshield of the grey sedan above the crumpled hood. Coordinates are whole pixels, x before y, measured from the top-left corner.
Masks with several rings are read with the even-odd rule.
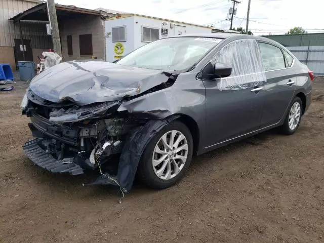
[[[146,44],[116,63],[159,70],[183,70],[203,58],[222,39],[206,37],[165,38]]]

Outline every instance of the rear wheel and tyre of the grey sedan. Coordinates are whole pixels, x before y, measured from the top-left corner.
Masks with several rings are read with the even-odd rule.
[[[280,131],[286,135],[292,135],[299,127],[303,113],[303,103],[299,97],[295,97],[289,106],[285,122],[280,127]]]

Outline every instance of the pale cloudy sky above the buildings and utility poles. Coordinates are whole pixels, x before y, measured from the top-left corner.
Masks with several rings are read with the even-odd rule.
[[[58,4],[80,8],[106,8],[127,13],[170,19],[229,29],[229,0],[55,0]],[[246,28],[248,0],[237,4],[233,27]],[[235,7],[236,8],[236,7]],[[251,0],[249,29],[255,35],[285,34],[299,27],[309,33],[324,32],[322,0]]]

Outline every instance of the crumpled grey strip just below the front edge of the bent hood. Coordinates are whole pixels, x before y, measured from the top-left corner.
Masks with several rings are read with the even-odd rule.
[[[93,116],[104,115],[110,108],[113,109],[113,107],[116,107],[117,109],[117,105],[118,102],[112,101],[101,103],[99,105],[73,106],[68,109],[53,109],[50,113],[50,120],[58,123],[85,120]]]

